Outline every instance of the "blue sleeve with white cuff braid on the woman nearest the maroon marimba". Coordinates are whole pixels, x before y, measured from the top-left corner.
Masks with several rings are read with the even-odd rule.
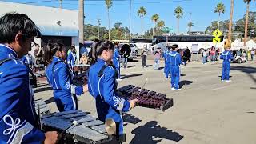
[[[107,68],[106,68],[107,69]],[[104,76],[103,95],[105,102],[112,106],[115,110],[128,111],[130,103],[124,98],[120,98],[118,94],[114,93],[115,88],[115,74],[114,70],[109,70]]]

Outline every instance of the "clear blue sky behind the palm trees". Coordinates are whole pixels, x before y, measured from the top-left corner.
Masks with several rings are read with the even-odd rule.
[[[31,5],[58,7],[58,0],[5,0],[6,2],[35,2]],[[78,0],[62,0],[63,8],[78,10]],[[186,33],[188,30],[189,13],[192,13],[191,20],[194,23],[192,30],[206,30],[207,26],[214,20],[218,20],[218,14],[214,14],[214,7],[218,2],[223,2],[226,6],[225,14],[222,14],[221,20],[230,17],[230,0],[132,0],[131,10],[131,31],[132,33],[141,33],[141,19],[138,17],[138,8],[146,8],[146,17],[144,18],[144,30],[150,29],[153,22],[150,20],[153,14],[159,14],[160,20],[166,22],[166,26],[177,30],[177,20],[174,16],[174,9],[182,6],[184,15],[180,19],[180,32]],[[256,11],[256,2],[250,3],[250,10]],[[246,13],[246,4],[243,0],[234,0],[234,21],[242,18]],[[97,24],[98,18],[101,19],[102,26],[107,27],[107,14],[105,2],[101,0],[85,0],[86,24]],[[115,22],[122,22],[122,26],[129,26],[129,0],[115,0],[110,8],[110,26]]]

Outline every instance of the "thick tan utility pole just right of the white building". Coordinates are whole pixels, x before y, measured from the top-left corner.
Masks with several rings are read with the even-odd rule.
[[[84,0],[79,0],[79,11],[78,11],[78,27],[79,27],[79,43],[84,43]]]

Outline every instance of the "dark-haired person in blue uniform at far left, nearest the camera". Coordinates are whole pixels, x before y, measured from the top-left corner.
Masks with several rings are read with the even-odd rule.
[[[31,50],[38,27],[25,14],[0,18],[0,143],[57,143],[56,131],[39,130],[34,92],[22,58]]]

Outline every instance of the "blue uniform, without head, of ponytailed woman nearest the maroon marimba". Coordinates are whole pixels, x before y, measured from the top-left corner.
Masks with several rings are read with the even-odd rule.
[[[96,100],[98,118],[105,122],[112,118],[117,123],[117,134],[123,134],[122,111],[130,109],[130,103],[118,96],[116,73],[112,66],[98,58],[97,62],[90,67],[88,74],[88,89]]]

